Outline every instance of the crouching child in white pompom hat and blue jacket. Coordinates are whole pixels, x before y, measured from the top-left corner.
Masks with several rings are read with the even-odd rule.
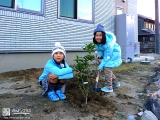
[[[66,80],[73,78],[72,68],[64,61],[66,51],[59,42],[55,43],[52,58],[45,64],[43,73],[39,77],[40,85],[51,101],[66,99],[64,94]]]

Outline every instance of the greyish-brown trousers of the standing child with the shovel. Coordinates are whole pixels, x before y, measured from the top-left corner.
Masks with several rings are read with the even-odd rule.
[[[118,82],[116,76],[113,74],[110,68],[104,68],[105,74],[105,86],[108,88],[112,88],[112,83]]]

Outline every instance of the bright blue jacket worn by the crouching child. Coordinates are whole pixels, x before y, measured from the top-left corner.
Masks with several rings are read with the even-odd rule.
[[[60,63],[57,65],[53,59],[47,61],[43,73],[39,77],[38,81],[42,81],[46,78],[50,73],[58,76],[58,79],[70,79],[73,78],[72,68],[65,62],[66,68],[63,68],[64,64]]]

